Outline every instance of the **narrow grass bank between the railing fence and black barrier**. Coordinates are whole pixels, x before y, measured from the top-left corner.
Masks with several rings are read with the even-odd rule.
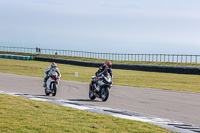
[[[13,54],[13,55],[26,55],[26,56],[38,56],[38,57],[49,57],[59,58],[86,62],[105,62],[105,59],[96,58],[85,58],[85,57],[74,57],[74,56],[62,56],[62,55],[47,55],[47,54],[31,54],[31,53],[20,53],[20,52],[6,52],[0,51],[0,54]],[[200,67],[200,63],[174,63],[174,62],[151,62],[151,61],[116,61],[111,60],[112,63],[119,64],[142,64],[142,65],[162,65],[162,66],[187,66],[187,67]]]

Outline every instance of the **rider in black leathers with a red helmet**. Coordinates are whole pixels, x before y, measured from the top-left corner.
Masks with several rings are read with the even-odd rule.
[[[102,66],[99,67],[99,70],[95,73],[96,75],[96,79],[95,81],[92,81],[90,86],[93,86],[98,80],[99,80],[99,76],[101,76],[101,74],[103,74],[104,71],[108,71],[108,73],[110,74],[111,78],[113,79],[113,74],[112,74],[112,63],[111,61],[106,61]]]

